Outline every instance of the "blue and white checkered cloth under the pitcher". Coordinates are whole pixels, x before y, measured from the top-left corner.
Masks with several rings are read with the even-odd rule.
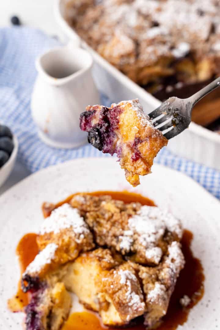
[[[18,161],[31,172],[79,157],[109,157],[87,144],[79,149],[54,149],[38,137],[31,117],[30,98],[37,75],[35,59],[59,42],[26,27],[0,29],[0,121],[11,127],[19,141]],[[114,100],[112,100],[114,101]],[[110,105],[102,96],[102,104]],[[173,155],[163,148],[155,162],[181,171],[220,198],[220,172]]]

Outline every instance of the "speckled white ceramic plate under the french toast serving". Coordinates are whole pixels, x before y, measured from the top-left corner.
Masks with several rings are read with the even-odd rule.
[[[139,187],[132,188],[115,158],[84,158],[39,171],[0,197],[0,329],[22,329],[23,314],[10,313],[7,299],[16,293],[19,279],[16,245],[25,233],[38,230],[43,221],[42,202],[58,202],[79,191],[123,189],[169,207],[194,233],[192,250],[204,266],[205,293],[178,329],[220,327],[220,203],[179,172],[159,165],[152,172],[142,178]]]

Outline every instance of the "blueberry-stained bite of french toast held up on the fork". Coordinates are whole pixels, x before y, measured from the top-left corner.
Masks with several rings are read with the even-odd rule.
[[[103,153],[116,153],[127,181],[140,184],[140,175],[151,172],[154,157],[168,140],[154,128],[139,100],[113,103],[110,108],[88,106],[80,115],[80,128],[88,142]]]

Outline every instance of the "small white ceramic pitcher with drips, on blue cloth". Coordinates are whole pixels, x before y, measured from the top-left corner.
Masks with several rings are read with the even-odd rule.
[[[75,44],[52,49],[37,59],[32,117],[48,145],[76,148],[85,143],[87,134],[79,128],[79,115],[87,105],[100,104],[92,64],[91,55]]]

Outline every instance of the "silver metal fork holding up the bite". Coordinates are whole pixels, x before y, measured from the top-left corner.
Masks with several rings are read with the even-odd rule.
[[[220,77],[187,99],[170,97],[148,116],[152,119],[155,128],[161,132],[165,131],[163,135],[169,140],[188,128],[195,104],[219,86]]]

